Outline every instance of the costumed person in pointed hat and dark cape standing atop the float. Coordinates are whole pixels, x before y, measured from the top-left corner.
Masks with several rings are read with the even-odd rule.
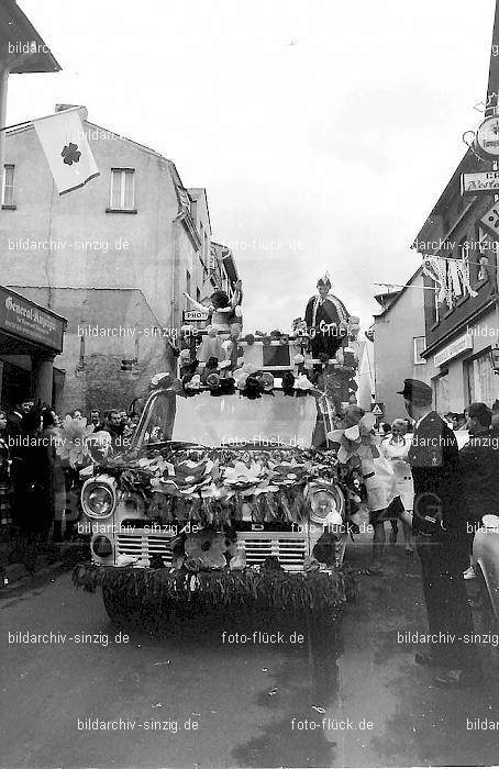
[[[314,358],[320,355],[334,358],[343,339],[348,336],[350,315],[343,302],[330,293],[331,279],[328,272],[319,278],[317,287],[319,293],[309,299],[304,311],[312,354]]]

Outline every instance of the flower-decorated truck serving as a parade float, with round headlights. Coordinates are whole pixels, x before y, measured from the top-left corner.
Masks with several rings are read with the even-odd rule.
[[[358,326],[315,304],[315,325],[297,319],[289,334],[243,335],[241,315],[189,328],[130,449],[93,465],[81,492],[92,562],[74,581],[100,586],[111,618],[186,605],[337,616],[362,481],[362,441],[342,431]]]

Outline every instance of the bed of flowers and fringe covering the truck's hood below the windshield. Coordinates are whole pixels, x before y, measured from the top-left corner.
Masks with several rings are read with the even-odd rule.
[[[307,516],[310,481],[341,482],[352,494],[357,490],[355,467],[339,464],[335,452],[314,449],[166,449],[127,462],[124,470],[114,460],[104,468],[121,491],[147,500],[148,516],[162,524],[299,523]]]

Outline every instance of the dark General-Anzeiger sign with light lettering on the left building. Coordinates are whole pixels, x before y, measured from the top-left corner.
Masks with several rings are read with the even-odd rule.
[[[64,319],[0,286],[0,328],[57,353],[63,349]]]

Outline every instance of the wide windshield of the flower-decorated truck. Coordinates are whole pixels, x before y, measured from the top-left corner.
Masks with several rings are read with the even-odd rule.
[[[191,398],[159,392],[145,410],[137,443],[164,441],[202,446],[289,446],[309,448],[318,420],[318,401],[311,395],[291,398],[275,390],[250,400],[240,394]]]

